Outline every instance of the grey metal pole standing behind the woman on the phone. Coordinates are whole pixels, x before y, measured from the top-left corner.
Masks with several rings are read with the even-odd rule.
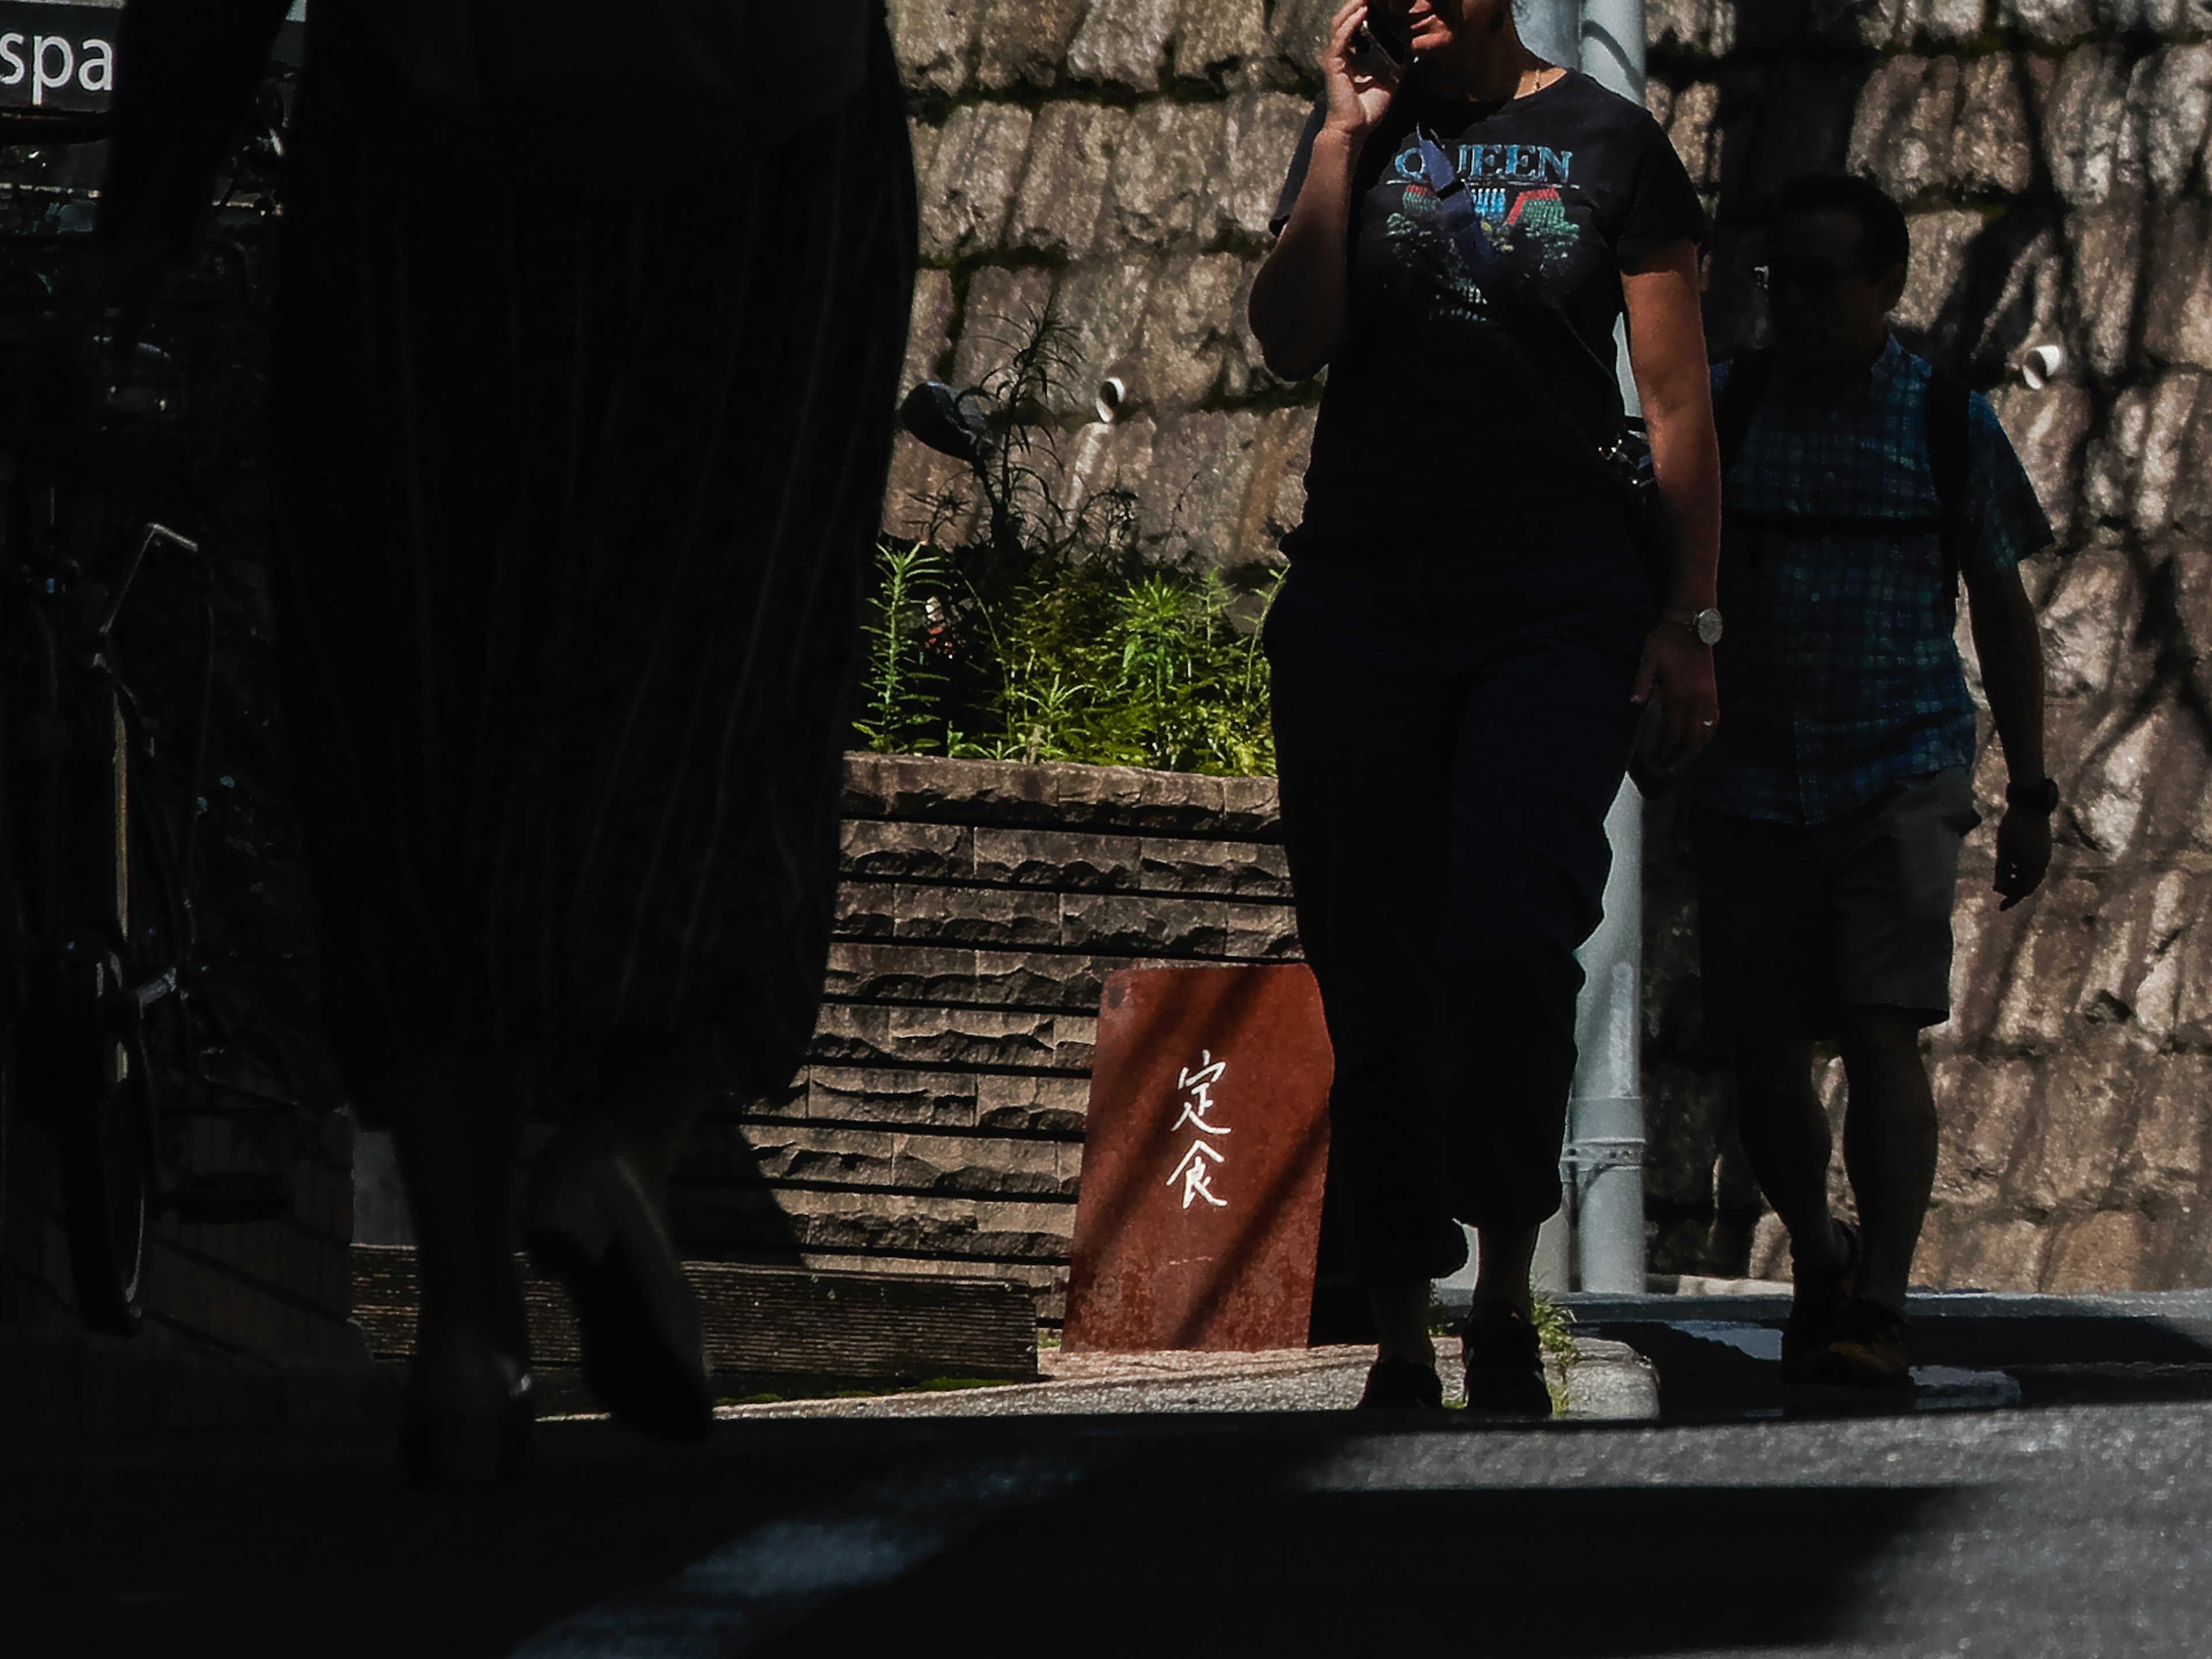
[[[1579,64],[1624,97],[1644,102],[1644,0],[1582,0]],[[1533,42],[1531,42],[1533,44]],[[1571,60],[1573,62],[1573,60]],[[1621,394],[1641,409],[1621,336]],[[1566,1110],[1559,1177],[1566,1186],[1573,1263],[1579,1290],[1644,1292],[1644,796],[1621,783],[1606,814],[1613,876],[1606,918],[1582,947],[1582,1004],[1575,1011],[1575,1088]]]

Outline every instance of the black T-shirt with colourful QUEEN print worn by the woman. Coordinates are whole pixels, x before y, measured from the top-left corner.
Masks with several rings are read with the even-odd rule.
[[[1274,230],[1305,184],[1305,124]],[[1659,124],[1568,71],[1506,104],[1409,80],[1352,179],[1352,299],[1292,557],[1422,546],[1610,487],[1621,265],[1701,241]]]

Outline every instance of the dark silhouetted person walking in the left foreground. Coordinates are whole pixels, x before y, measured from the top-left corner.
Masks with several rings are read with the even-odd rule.
[[[285,0],[131,0],[126,314]],[[914,268],[880,4],[316,4],[285,177],[279,604],[330,1033],[420,1239],[403,1453],[529,1462],[509,1192],[584,1376],[706,1433],[661,1228],[714,1088],[790,1079]]]

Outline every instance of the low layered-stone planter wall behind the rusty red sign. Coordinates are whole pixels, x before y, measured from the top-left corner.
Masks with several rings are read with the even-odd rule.
[[[695,1130],[688,1259],[991,1274],[1060,1321],[1106,975],[1298,953],[1272,779],[854,754],[814,1048]]]

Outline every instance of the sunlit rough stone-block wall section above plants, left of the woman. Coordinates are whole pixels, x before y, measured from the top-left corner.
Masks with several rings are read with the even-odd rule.
[[[1321,0],[894,0],[914,97],[922,276],[907,380],[973,385],[1046,301],[1068,323],[1046,398],[1064,504],[1137,491],[1166,557],[1267,557],[1303,511],[1318,389],[1243,325],[1267,215],[1312,106]],[[1115,420],[1099,387],[1126,385]],[[962,471],[900,440],[887,522]]]

